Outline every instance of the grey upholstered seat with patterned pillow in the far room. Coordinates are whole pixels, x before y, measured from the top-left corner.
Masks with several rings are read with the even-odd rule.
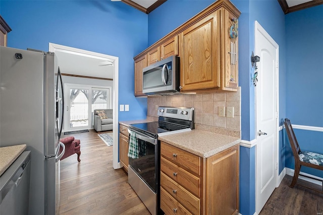
[[[96,109],[93,111],[93,118],[95,131],[113,130],[113,109]]]

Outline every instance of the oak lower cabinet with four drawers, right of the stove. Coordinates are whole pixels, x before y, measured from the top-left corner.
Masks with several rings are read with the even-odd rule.
[[[203,158],[161,142],[160,156],[165,214],[239,213],[239,145]],[[198,163],[201,173],[186,168],[187,163]]]

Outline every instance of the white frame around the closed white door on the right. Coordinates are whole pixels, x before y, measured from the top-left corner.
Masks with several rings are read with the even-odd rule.
[[[261,32],[261,34],[263,34],[267,40],[269,40],[272,44],[275,44],[275,47],[277,47],[277,72],[275,74],[275,79],[276,79],[276,114],[277,114],[277,117],[276,117],[276,179],[275,179],[275,182],[276,182],[276,187],[279,186],[279,45],[276,43],[276,41],[262,28],[262,26],[257,22],[255,21],[255,33],[254,33],[254,43],[255,43],[255,50],[257,48],[257,34],[259,32]],[[255,53],[256,55],[256,53]],[[260,59],[261,61],[261,59]],[[256,107],[256,104],[257,104],[257,96],[256,96],[256,93],[257,93],[257,88],[255,89],[255,139],[257,140],[258,139],[258,134],[257,134],[257,131],[258,131],[258,125],[257,125],[257,107]],[[257,156],[257,154],[256,154]],[[255,161],[257,162],[257,157],[255,159]],[[257,163],[256,163],[256,167],[257,167]],[[258,198],[257,198],[257,183],[260,183],[257,181],[257,168],[255,169],[256,170],[256,175],[255,175],[255,181],[256,181],[256,213],[257,213],[257,201],[258,201]]]

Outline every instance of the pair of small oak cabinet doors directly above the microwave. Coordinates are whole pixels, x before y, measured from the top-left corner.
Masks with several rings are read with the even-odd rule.
[[[178,55],[178,35],[149,50],[147,53],[147,65],[157,63],[172,55]]]

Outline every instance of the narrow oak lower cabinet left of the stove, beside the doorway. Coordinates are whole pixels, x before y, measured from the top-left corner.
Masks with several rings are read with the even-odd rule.
[[[128,128],[126,126],[120,125],[119,126],[119,158],[120,163],[123,165],[123,168],[126,172],[128,172],[128,164],[129,164],[129,157],[128,157],[128,149],[129,149],[129,133]]]

